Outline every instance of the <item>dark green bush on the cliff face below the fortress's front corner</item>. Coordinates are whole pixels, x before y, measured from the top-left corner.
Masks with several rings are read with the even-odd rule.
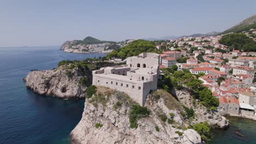
[[[137,121],[140,118],[143,117],[148,117],[149,116],[149,110],[147,109],[147,107],[142,107],[138,104],[133,105],[130,113],[129,113],[129,121],[130,121],[130,127],[133,128],[137,128],[138,124]]]

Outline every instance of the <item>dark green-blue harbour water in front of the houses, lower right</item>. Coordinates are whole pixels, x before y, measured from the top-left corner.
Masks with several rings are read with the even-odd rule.
[[[245,118],[227,117],[230,122],[228,130],[212,130],[212,140],[210,143],[256,143],[256,122]],[[237,136],[235,131],[245,135]]]

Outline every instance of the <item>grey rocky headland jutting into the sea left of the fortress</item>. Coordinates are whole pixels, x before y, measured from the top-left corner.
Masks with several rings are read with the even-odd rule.
[[[88,75],[80,74],[77,69],[34,70],[28,73],[24,81],[27,88],[39,94],[78,99],[85,97],[87,87],[80,80],[85,77],[89,82]]]

